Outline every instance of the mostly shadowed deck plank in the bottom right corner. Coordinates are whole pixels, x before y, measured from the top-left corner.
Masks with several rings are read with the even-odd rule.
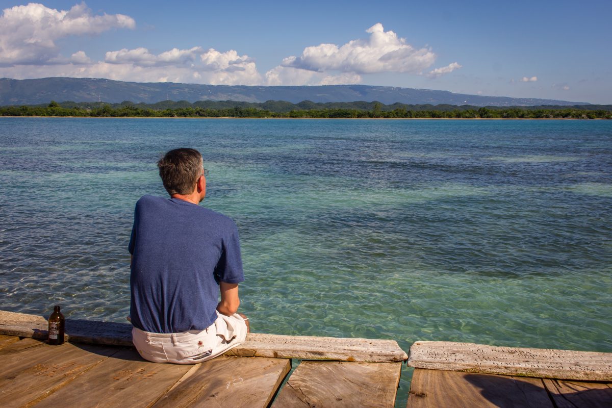
[[[612,384],[545,379],[557,408],[610,408]]]

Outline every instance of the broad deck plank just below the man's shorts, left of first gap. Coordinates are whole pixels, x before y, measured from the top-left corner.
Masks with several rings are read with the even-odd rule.
[[[220,356],[196,365],[164,395],[160,407],[267,407],[291,362]]]

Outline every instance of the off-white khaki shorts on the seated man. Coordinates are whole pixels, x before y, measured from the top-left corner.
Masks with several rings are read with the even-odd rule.
[[[225,316],[204,330],[182,333],[149,333],[132,328],[132,343],[138,353],[154,363],[196,364],[210,360],[244,342],[247,325],[239,314]]]

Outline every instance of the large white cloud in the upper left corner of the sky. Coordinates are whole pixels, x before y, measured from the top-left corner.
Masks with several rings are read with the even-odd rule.
[[[0,17],[0,66],[57,64],[62,62],[55,43],[58,39],[135,26],[127,15],[93,15],[85,3],[59,11],[38,3],[4,9]]]

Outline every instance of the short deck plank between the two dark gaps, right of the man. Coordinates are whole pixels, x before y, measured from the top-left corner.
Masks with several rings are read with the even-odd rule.
[[[401,363],[301,362],[272,408],[393,407]]]

